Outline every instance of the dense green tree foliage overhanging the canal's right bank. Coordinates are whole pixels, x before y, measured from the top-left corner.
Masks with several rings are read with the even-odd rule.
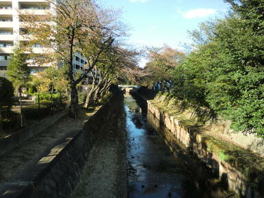
[[[264,137],[263,3],[228,2],[232,14],[192,32],[196,50],[174,70],[173,93]]]

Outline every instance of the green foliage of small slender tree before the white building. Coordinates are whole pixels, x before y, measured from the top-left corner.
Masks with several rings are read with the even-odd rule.
[[[26,86],[30,80],[30,71],[27,67],[27,55],[23,53],[23,49],[19,46],[14,48],[14,54],[10,57],[6,74],[16,90]]]

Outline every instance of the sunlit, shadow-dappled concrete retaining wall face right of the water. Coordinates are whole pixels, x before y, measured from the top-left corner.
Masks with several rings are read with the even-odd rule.
[[[212,137],[202,135],[202,133],[195,129],[185,126],[181,120],[175,119],[169,113],[157,107],[155,102],[157,103],[157,101],[148,100],[148,113],[153,114],[153,117],[157,119],[155,122],[156,128],[161,129],[161,126],[168,128],[167,132],[163,131],[163,135],[171,150],[174,150],[176,141],[180,141],[187,150],[194,153],[205,165],[210,167],[213,173],[219,175],[221,180],[226,180],[229,188],[234,190],[240,197],[264,197],[263,188],[261,189],[261,186],[263,187],[263,180],[250,177],[252,175],[249,171],[250,166],[258,162],[251,162],[251,164],[248,163],[248,165],[241,166],[236,164],[236,161],[234,163],[224,161],[221,159],[220,153],[211,150],[212,141],[209,140],[213,139]],[[218,139],[216,140],[220,141]],[[260,159],[261,161],[263,162]],[[254,174],[263,174],[263,169],[258,171]],[[252,186],[255,186],[254,190]]]

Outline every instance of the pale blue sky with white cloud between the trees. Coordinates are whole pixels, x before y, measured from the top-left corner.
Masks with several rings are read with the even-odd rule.
[[[127,42],[136,48],[163,46],[184,50],[190,44],[187,31],[229,9],[223,0],[99,0],[103,7],[122,9],[121,19],[129,26]],[[146,60],[142,59],[141,66]]]

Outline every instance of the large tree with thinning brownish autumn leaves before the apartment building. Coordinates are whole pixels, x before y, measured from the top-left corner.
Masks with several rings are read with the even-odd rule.
[[[54,12],[49,14],[49,22],[43,21],[42,16],[26,15],[29,21],[26,28],[34,34],[32,43],[38,43],[46,51],[44,61],[63,62],[67,68],[70,84],[70,116],[77,117],[78,94],[77,85],[94,69],[96,63],[101,61],[101,54],[114,44],[115,38],[120,34],[116,23],[116,16],[109,15],[89,0],[49,1],[55,5]],[[42,21],[42,22],[41,22]],[[75,79],[73,72],[73,59],[75,53],[82,53],[88,60],[83,74]]]

